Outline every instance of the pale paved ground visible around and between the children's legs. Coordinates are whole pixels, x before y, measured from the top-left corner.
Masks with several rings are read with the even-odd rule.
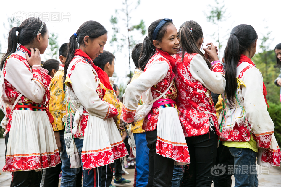
[[[2,172],[5,165],[5,140],[0,138],[0,186],[9,187],[12,179],[11,173]],[[134,169],[126,169],[128,175],[123,175],[124,178],[132,181],[128,187],[133,186],[134,182]],[[258,165],[258,179],[260,187],[280,187],[281,186],[281,168],[262,168]],[[113,184],[113,181],[112,181]],[[60,185],[59,185],[60,186]],[[212,185],[213,186],[213,185]],[[235,179],[232,176],[232,187],[235,186]]]

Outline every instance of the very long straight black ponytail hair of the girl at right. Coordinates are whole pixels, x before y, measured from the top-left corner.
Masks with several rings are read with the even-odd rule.
[[[236,67],[240,56],[249,51],[258,35],[251,25],[237,25],[230,32],[230,37],[225,48],[225,94],[230,103],[234,103],[237,89]],[[250,51],[249,51],[250,52]]]

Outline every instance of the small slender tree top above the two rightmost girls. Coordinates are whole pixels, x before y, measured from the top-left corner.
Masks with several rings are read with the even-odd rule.
[[[224,5],[224,1],[222,1],[222,3],[219,3],[217,0],[215,0],[216,2],[216,6],[212,6],[212,5],[208,5],[209,8],[211,9],[211,11],[208,13],[204,12],[205,16],[207,17],[207,21],[211,22],[212,24],[216,25],[217,27],[217,32],[214,32],[213,35],[211,35],[212,37],[215,37],[216,42],[219,44],[218,50],[219,50],[219,58],[220,58],[220,52],[221,52],[221,48],[222,48],[222,39],[220,36],[220,25],[222,22],[226,21],[226,19],[228,19],[230,16],[226,15],[226,8]],[[220,5],[222,4],[222,5]],[[217,34],[217,36],[215,36]]]

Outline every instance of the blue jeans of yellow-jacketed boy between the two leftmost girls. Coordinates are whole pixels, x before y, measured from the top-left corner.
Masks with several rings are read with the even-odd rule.
[[[62,145],[62,151],[60,152],[60,158],[62,162],[62,179],[61,187],[76,186],[76,175],[79,173],[79,168],[70,168],[70,157],[66,153],[64,134],[59,134],[59,139]]]

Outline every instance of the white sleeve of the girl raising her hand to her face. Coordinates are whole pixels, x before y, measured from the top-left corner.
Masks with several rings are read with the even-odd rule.
[[[196,55],[190,62],[190,73],[213,93],[222,94],[225,91],[225,78],[208,68],[201,55]]]

